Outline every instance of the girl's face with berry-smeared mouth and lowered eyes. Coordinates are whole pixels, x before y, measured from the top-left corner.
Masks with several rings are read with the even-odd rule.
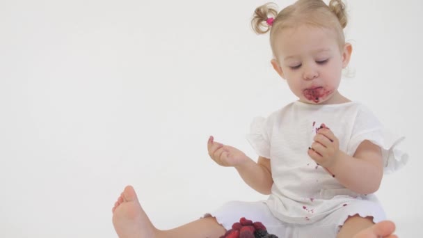
[[[275,35],[273,68],[301,102],[340,103],[337,91],[351,45],[341,51],[334,31],[314,26],[282,29]]]

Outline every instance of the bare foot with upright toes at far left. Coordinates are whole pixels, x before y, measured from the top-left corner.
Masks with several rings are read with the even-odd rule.
[[[153,238],[156,228],[141,208],[134,188],[125,187],[112,209],[113,226],[120,238]]]

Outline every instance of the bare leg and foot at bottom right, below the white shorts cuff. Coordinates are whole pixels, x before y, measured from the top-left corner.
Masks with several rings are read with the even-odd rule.
[[[374,224],[372,217],[362,218],[358,215],[350,216],[342,225],[337,238],[394,238],[394,223],[382,221]]]

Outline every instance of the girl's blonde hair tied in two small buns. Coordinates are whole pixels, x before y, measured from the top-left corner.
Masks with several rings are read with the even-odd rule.
[[[273,17],[271,26],[267,19]],[[322,0],[298,0],[294,4],[282,9],[280,13],[276,10],[276,4],[266,3],[255,9],[251,26],[257,34],[264,34],[270,31],[270,42],[273,55],[274,35],[276,32],[287,27],[308,24],[311,26],[333,29],[337,34],[337,41],[340,49],[344,47],[344,28],[347,23],[345,4],[342,0],[330,0],[326,5]]]

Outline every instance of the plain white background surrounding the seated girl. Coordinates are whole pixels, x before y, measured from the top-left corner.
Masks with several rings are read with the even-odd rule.
[[[293,1],[278,1],[280,7]],[[0,0],[0,237],[116,237],[127,184],[158,228],[258,200],[207,138],[256,158],[255,116],[296,100],[250,17],[265,1]],[[349,1],[340,91],[365,103],[410,161],[378,197],[398,235],[423,235],[423,2]]]

